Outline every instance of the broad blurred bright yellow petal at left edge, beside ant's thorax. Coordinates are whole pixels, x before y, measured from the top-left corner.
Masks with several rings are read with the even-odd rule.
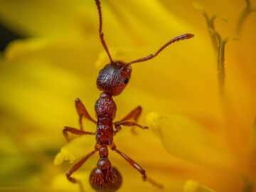
[[[87,95],[83,90],[92,90],[90,85],[95,87],[90,78],[80,87],[79,82],[82,80],[78,75],[57,65],[34,60],[16,65],[4,63],[0,73],[1,92],[4,92],[4,95],[0,95],[0,103],[8,109],[4,111],[6,115],[30,122],[33,124],[31,132],[40,129],[41,132],[50,133],[58,141],[64,140],[60,135],[65,125],[78,126],[75,98],[80,96],[83,101],[82,95]],[[87,101],[91,102],[87,110],[93,114],[95,99],[89,94]]]

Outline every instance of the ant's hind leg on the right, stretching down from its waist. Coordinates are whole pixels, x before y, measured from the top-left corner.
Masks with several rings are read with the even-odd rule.
[[[134,169],[137,169],[137,171],[139,171],[140,174],[142,174],[142,179],[144,181],[148,181],[149,183],[151,183],[152,185],[158,187],[158,188],[164,188],[164,186],[162,186],[160,183],[157,183],[156,181],[152,180],[151,178],[146,176],[146,171],[142,168],[142,166],[140,166],[139,164],[137,164],[137,162],[135,162],[134,160],[132,160],[131,158],[129,158],[129,156],[127,156],[126,154],[122,153],[121,151],[119,151],[115,144],[112,143],[110,145],[110,148],[114,151],[117,152],[117,154],[121,155],[131,166],[134,167]]]

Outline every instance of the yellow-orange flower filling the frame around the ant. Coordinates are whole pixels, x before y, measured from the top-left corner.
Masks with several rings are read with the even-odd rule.
[[[247,17],[240,41],[231,41],[225,48],[221,103],[216,55],[206,24],[192,3],[102,1],[103,31],[114,59],[142,58],[181,33],[196,35],[171,45],[154,60],[132,66],[127,89],[114,97],[116,119],[142,105],[139,123],[150,129],[137,129],[134,137],[123,128],[114,142],[162,183],[164,191],[252,191],[256,174],[255,19]],[[208,1],[204,6],[228,18],[229,23],[216,21],[215,26],[225,37],[233,35],[232,24],[245,3]],[[6,26],[28,37],[11,42],[0,61],[0,147],[3,163],[10,165],[0,172],[1,186],[78,191],[65,178],[71,164],[55,167],[52,161],[57,151],[55,164],[76,161],[95,145],[91,136],[65,144],[61,134],[65,125],[78,127],[73,100],[80,97],[93,117],[100,94],[95,63],[101,66],[107,60],[97,33],[95,3],[0,1],[0,16]],[[95,125],[85,122],[85,129],[93,131]],[[95,154],[74,174],[86,191],[92,191],[88,178],[97,160]],[[110,151],[110,160],[124,177],[120,191],[159,191],[144,183],[118,154]],[[2,179],[8,171],[9,180]]]

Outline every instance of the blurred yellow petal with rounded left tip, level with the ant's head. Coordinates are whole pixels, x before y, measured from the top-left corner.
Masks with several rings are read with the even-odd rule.
[[[30,38],[12,41],[4,51],[4,58],[12,63],[26,63],[28,60],[33,60],[34,63],[40,61],[53,63],[77,73],[76,75],[81,73],[82,76],[92,77],[97,73],[93,63],[100,48],[102,48],[100,41],[95,43],[95,39],[84,36],[65,39]]]

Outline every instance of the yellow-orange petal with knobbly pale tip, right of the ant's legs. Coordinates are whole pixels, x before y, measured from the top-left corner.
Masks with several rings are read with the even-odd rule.
[[[210,132],[193,119],[151,112],[146,116],[146,123],[174,156],[198,164],[233,166],[230,155],[220,149],[210,137]]]

